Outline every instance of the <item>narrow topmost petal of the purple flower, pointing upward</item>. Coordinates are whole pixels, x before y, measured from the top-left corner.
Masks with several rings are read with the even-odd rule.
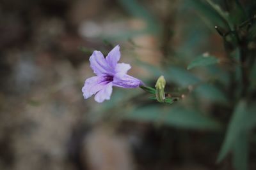
[[[108,53],[106,57],[106,61],[108,62],[109,66],[115,69],[118,60],[120,60],[120,57],[121,57],[120,46],[116,45],[115,48],[113,48],[113,50],[111,50]]]

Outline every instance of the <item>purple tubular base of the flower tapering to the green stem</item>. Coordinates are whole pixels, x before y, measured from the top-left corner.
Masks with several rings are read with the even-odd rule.
[[[116,73],[113,80],[114,86],[123,88],[136,88],[142,84],[141,80],[124,73]]]

